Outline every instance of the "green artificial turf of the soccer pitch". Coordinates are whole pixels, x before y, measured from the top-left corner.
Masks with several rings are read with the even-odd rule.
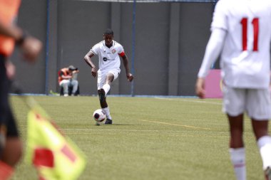
[[[58,127],[86,154],[81,180],[235,179],[221,100],[107,97],[113,125],[96,126],[98,97],[35,96]],[[27,107],[11,97],[26,142]],[[245,120],[247,179],[263,179],[262,162]],[[38,179],[24,159],[12,180]]]

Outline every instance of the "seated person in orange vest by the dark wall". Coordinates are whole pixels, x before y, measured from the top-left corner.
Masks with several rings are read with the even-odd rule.
[[[68,87],[72,86],[73,90],[71,95],[75,95],[78,89],[78,68],[75,68],[73,65],[68,66],[68,68],[63,68],[58,71],[58,83],[63,87],[64,96],[68,96]]]

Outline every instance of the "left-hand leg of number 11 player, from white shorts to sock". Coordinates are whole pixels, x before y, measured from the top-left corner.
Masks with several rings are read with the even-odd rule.
[[[230,125],[230,160],[237,180],[245,180],[245,145],[242,138],[245,90],[225,87],[223,99],[223,110]]]

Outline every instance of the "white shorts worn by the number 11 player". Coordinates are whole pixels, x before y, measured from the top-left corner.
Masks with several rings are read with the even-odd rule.
[[[270,120],[270,90],[223,87],[223,112],[233,117],[247,112],[253,120]]]

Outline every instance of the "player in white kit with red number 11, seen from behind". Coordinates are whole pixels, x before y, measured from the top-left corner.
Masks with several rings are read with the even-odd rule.
[[[205,77],[220,55],[223,111],[230,125],[230,159],[238,180],[246,179],[242,139],[246,112],[262,157],[265,179],[271,179],[270,102],[271,1],[220,0],[195,91],[205,97]]]

